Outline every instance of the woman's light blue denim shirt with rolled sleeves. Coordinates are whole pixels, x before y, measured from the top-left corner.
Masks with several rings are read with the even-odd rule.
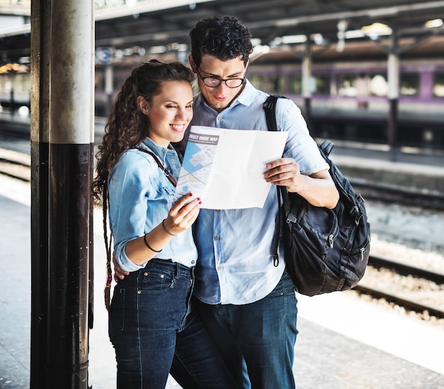
[[[179,176],[180,161],[176,150],[163,148],[150,138],[139,147],[159,157],[174,178]],[[109,224],[114,239],[114,254],[123,270],[135,271],[136,265],[126,256],[126,243],[150,232],[167,217],[172,207],[174,186],[148,153],[134,148],[125,150],[108,179]],[[197,251],[192,229],[177,234],[154,258],[171,259],[189,267],[196,264]]]

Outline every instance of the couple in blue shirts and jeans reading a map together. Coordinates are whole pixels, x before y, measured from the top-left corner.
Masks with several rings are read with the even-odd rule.
[[[189,195],[172,203],[181,161],[171,143],[190,124],[267,131],[267,94],[245,79],[248,28],[216,16],[190,38],[192,70],[155,60],[133,70],[97,155],[94,198],[106,205],[109,194],[115,240],[118,388],[164,388],[168,373],[183,388],[294,388],[296,296],[283,261],[272,261],[275,187],[262,209],[200,209]],[[335,207],[328,165],[290,100],[279,99],[277,124],[289,131],[284,158],[264,179]]]

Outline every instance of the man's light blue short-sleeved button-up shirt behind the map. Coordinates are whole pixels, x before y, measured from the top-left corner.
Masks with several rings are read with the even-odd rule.
[[[267,96],[247,81],[231,106],[218,113],[197,94],[190,126],[267,131],[262,108]],[[294,102],[279,99],[276,116],[279,131],[289,131],[284,157],[294,158],[305,175],[328,169]],[[285,268],[282,244],[279,265],[273,264],[277,211],[274,185],[263,208],[201,209],[193,229],[199,253],[194,295],[199,300],[243,305],[270,294]]]

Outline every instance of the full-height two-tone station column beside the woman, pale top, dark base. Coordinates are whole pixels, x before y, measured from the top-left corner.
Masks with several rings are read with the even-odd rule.
[[[44,38],[49,45],[40,40],[40,52],[33,51],[35,57],[50,58],[48,79],[40,78],[35,83],[33,80],[34,85],[39,84],[40,95],[50,85],[47,171],[40,171],[32,182],[36,197],[33,206],[40,205],[38,210],[31,211],[35,216],[33,241],[40,232],[41,247],[33,270],[40,273],[40,285],[36,285],[35,291],[40,295],[36,301],[43,312],[43,317],[31,319],[35,325],[41,320],[31,334],[31,344],[35,344],[34,349],[31,347],[31,360],[42,360],[35,362],[33,389],[88,386],[92,302],[89,270],[94,249],[90,195],[94,150],[93,6],[94,2],[89,0],[60,0],[33,7],[35,18],[50,14],[46,19],[50,33]],[[40,31],[33,30],[31,40],[37,34],[42,37],[45,22],[40,20],[38,25]],[[40,77],[43,75],[42,65],[34,70]],[[44,103],[39,104],[40,114]],[[31,132],[42,141],[41,120],[34,127]],[[34,168],[43,154],[33,153],[37,158]],[[37,231],[40,224],[45,228]]]

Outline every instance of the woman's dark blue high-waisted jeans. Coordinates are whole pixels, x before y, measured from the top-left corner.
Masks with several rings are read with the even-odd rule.
[[[158,259],[118,282],[109,314],[117,388],[165,388],[173,359],[184,388],[235,388],[191,309],[193,287],[194,269]]]

